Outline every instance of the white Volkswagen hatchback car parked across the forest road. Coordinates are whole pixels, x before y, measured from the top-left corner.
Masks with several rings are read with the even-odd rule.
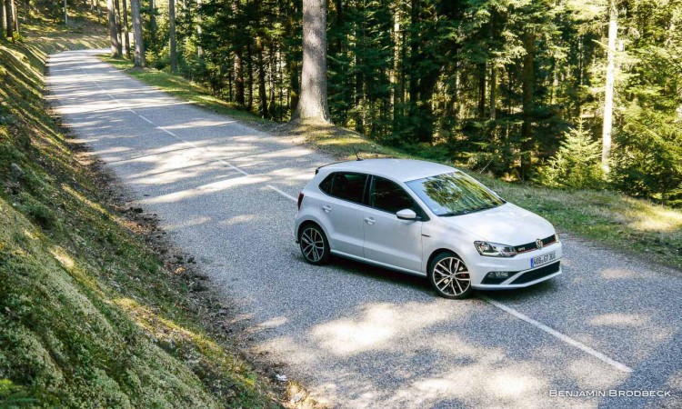
[[[298,195],[306,262],[332,254],[424,275],[446,298],[526,287],[561,274],[561,243],[544,218],[456,168],[403,159],[326,165]]]

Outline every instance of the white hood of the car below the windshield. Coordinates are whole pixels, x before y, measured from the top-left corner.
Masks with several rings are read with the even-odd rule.
[[[527,244],[555,233],[554,226],[547,220],[510,203],[481,212],[441,219],[447,224],[476,234],[485,241],[499,244]]]

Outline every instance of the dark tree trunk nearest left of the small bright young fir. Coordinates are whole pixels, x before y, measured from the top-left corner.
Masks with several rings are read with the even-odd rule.
[[[530,177],[530,170],[533,161],[533,84],[535,83],[535,41],[534,33],[524,35],[524,55],[523,66],[523,124],[521,125],[521,177],[527,180]]]

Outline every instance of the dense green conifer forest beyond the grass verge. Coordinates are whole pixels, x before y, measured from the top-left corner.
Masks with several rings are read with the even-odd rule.
[[[113,51],[130,55],[121,34],[135,13],[120,1],[108,0]],[[326,10],[335,125],[507,181],[682,206],[681,0],[129,3],[146,65],[286,122],[301,92],[308,2]]]

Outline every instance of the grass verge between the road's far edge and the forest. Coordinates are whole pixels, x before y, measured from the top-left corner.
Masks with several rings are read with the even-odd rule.
[[[430,159],[431,156],[429,152],[407,153],[382,146],[338,126],[276,125],[208,95],[202,86],[177,75],[156,70],[134,70],[129,61],[106,56],[103,59],[147,85],[156,86],[186,101],[196,102],[219,114],[232,116],[270,132],[297,135],[301,142],[338,160],[355,159],[356,154],[362,157],[416,159]],[[448,161],[440,162],[454,165]],[[506,183],[492,175],[470,170],[467,173],[510,202],[543,215],[561,233],[576,234],[629,254],[643,255],[652,262],[682,268],[682,211],[678,209],[634,199],[617,192],[558,190],[523,183]]]

